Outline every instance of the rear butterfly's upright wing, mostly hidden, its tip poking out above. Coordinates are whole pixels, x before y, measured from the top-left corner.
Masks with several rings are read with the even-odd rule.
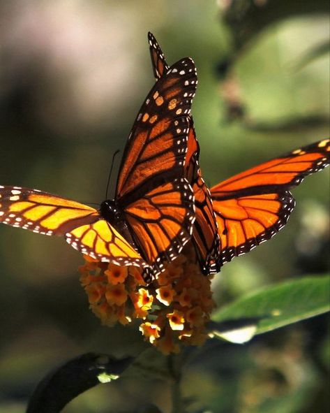
[[[156,38],[150,32],[148,33],[148,40],[153,75],[158,80],[163,75],[166,75],[170,66],[167,65],[163,51]],[[220,270],[220,237],[218,235],[216,217],[213,213],[211,194],[200,171],[200,145],[196,138],[191,116],[189,122],[185,173],[195,196],[195,222],[192,240],[202,273],[214,274]]]

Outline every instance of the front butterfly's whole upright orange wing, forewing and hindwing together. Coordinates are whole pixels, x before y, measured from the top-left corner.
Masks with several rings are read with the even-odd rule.
[[[116,200],[154,274],[181,252],[193,231],[193,191],[177,177],[183,176],[196,85],[192,59],[168,68],[137,115],[119,168]]]

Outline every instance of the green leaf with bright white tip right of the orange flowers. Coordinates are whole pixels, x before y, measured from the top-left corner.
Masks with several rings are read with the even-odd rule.
[[[228,341],[246,342],[253,335],[328,312],[329,298],[328,276],[303,277],[265,287],[215,312],[211,332]]]

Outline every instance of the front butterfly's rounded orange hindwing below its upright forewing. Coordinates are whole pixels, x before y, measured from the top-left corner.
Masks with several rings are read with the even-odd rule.
[[[126,222],[147,262],[156,273],[163,261],[174,259],[193,231],[193,194],[185,178],[177,178],[147,192],[126,208]]]

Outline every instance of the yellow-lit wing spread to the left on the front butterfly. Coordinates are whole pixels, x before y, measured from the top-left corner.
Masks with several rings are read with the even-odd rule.
[[[147,266],[98,210],[37,189],[0,186],[0,222],[47,236],[63,236],[99,261]]]

